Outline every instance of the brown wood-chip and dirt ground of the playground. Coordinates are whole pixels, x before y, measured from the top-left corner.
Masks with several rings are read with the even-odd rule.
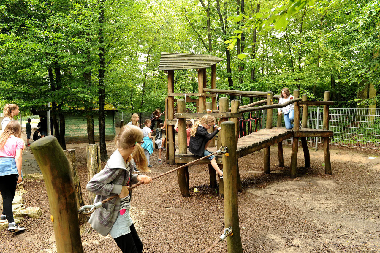
[[[86,144],[76,149],[82,193],[87,202]],[[115,150],[108,142],[108,154]],[[377,150],[331,148],[332,175],[325,175],[323,150],[310,150],[311,168],[298,153],[297,178],[289,178],[291,148],[284,146],[285,167],[271,148],[271,173],[263,174],[263,152],[239,159],[243,191],[238,194],[243,251],[380,252],[380,154]],[[372,157],[372,158],[371,158]],[[40,172],[30,148],[24,174]],[[151,157],[149,176],[175,168]],[[25,161],[26,160],[26,161]],[[165,158],[164,158],[165,160]],[[103,163],[104,166],[105,163]],[[183,198],[176,173],[133,190],[131,217],[145,253],[206,251],[224,229],[223,199],[209,187],[207,165],[189,168],[190,198]],[[193,192],[196,187],[199,192]],[[38,206],[39,219],[26,218],[22,234],[0,231],[0,252],[55,252],[53,226],[43,180],[25,179],[25,207]],[[114,240],[91,231],[82,235],[84,252],[121,252]],[[227,252],[226,242],[212,252]]]

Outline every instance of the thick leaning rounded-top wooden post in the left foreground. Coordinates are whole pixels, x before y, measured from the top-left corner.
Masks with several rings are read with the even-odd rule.
[[[68,160],[54,136],[30,145],[44,176],[58,253],[82,253],[78,208]]]

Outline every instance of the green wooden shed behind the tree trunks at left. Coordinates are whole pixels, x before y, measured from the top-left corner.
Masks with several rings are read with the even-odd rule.
[[[105,104],[105,128],[106,128],[106,141],[112,141],[116,135],[116,121],[115,113],[117,109],[112,104]],[[99,121],[98,111],[99,108],[93,109],[94,119],[94,138],[99,141]],[[35,115],[47,115],[46,110],[38,110]],[[59,123],[58,123],[59,124]],[[50,127],[52,129],[52,125]],[[52,133],[51,133],[52,134]],[[87,136],[87,120],[84,109],[73,109],[65,112],[65,141],[66,143],[88,142]]]

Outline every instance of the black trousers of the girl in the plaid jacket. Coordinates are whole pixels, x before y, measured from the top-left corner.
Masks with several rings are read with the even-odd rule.
[[[136,232],[135,225],[129,227],[131,232],[115,238],[117,246],[123,253],[142,253],[142,242]]]

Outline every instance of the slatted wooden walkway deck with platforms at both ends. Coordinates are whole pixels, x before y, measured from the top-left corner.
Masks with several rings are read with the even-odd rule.
[[[244,157],[250,153],[258,150],[270,147],[278,142],[285,141],[292,137],[332,137],[332,131],[326,131],[321,129],[302,128],[301,130],[287,130],[285,127],[264,128],[256,131],[252,134],[248,134],[237,140],[236,156],[238,158]],[[215,152],[216,147],[207,148],[210,152]],[[189,151],[187,154],[179,154],[179,150],[176,150],[176,163],[189,163],[198,159],[199,157],[193,155]],[[222,155],[215,155],[218,164],[222,164]],[[208,159],[199,161],[198,163],[209,163]]]

